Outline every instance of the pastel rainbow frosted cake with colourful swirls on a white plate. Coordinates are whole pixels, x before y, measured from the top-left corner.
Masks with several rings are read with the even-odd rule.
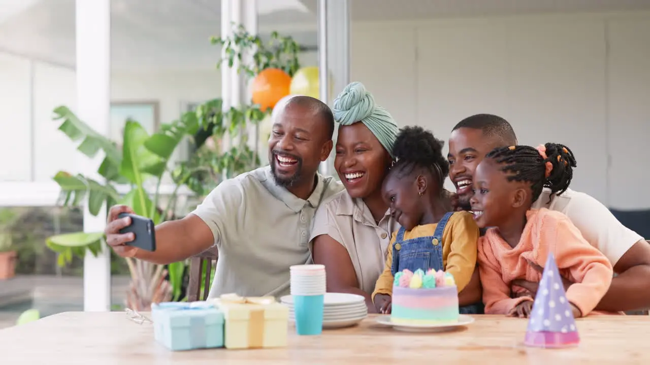
[[[458,322],[458,289],[450,273],[404,269],[395,274],[392,299],[393,323]]]

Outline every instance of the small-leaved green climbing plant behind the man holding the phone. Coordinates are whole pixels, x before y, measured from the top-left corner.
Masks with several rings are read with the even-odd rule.
[[[241,26],[233,27],[227,38],[211,38],[211,43],[221,47],[223,55],[217,68],[224,64],[237,65],[237,71],[246,79],[251,79],[267,68],[278,68],[289,76],[300,69],[298,53],[300,45],[289,36],[272,32],[270,39],[264,41],[260,36],[250,34]],[[225,179],[231,179],[259,167],[259,151],[250,147],[250,129],[258,130],[259,123],[271,110],[261,110],[250,101],[243,105],[224,110],[222,99],[212,99],[201,104],[196,110],[185,113],[198,120],[203,138],[194,139],[196,153],[175,168],[172,177],[177,184],[185,184],[196,194],[203,196]],[[185,118],[185,117],[184,117]],[[254,145],[257,146],[257,136]],[[225,140],[237,143],[226,148]]]

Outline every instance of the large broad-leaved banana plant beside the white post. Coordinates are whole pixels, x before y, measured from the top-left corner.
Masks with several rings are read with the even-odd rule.
[[[101,151],[104,158],[98,168],[99,179],[92,179],[80,173],[59,171],[53,178],[61,188],[63,205],[86,204],[90,214],[97,216],[101,209],[108,209],[116,203],[127,205],[135,214],[151,218],[155,224],[174,216],[170,212],[175,201],[177,188],[168,197],[167,207],[159,207],[161,181],[168,171],[170,157],[187,135],[199,129],[196,114],[184,114],[183,118],[161,125],[159,131],[149,135],[135,120],[125,121],[122,149],[105,136],[94,131],[67,107],[54,110],[57,121],[62,121],[59,130],[73,142],[81,142],[77,149],[88,158],[94,158]],[[176,179],[178,186],[183,179]],[[155,181],[153,191],[148,184]],[[118,192],[118,186],[130,186],[126,194]],[[178,187],[177,186],[177,187]],[[59,253],[59,265],[68,264],[73,256],[84,257],[90,252],[97,256],[104,248],[105,236],[96,233],[70,233],[49,237],[47,247]],[[131,273],[131,286],[127,293],[128,308],[148,310],[151,303],[179,300],[185,272],[185,262],[175,262],[165,269],[133,258],[126,258]],[[169,282],[164,280],[169,274]]]

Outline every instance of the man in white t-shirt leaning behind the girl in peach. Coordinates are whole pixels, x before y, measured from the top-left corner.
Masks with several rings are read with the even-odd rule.
[[[499,116],[476,114],[454,127],[447,158],[449,177],[456,186],[460,208],[469,210],[473,191],[468,186],[471,186],[478,163],[495,147],[516,144],[512,126]],[[614,266],[618,275],[597,310],[616,312],[650,307],[650,244],[647,241],[623,226],[602,203],[581,192],[568,189],[555,195],[544,189],[533,204],[533,208],[541,207],[567,215],[582,236]],[[480,292],[478,283],[473,284],[474,290]],[[536,283],[519,280],[512,284],[525,288],[533,296],[536,294]]]

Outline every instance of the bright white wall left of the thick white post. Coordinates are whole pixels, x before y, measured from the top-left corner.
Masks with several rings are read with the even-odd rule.
[[[73,167],[75,149],[57,131],[52,110],[74,108],[74,73],[0,53],[0,80],[0,180],[51,180],[56,171]]]

